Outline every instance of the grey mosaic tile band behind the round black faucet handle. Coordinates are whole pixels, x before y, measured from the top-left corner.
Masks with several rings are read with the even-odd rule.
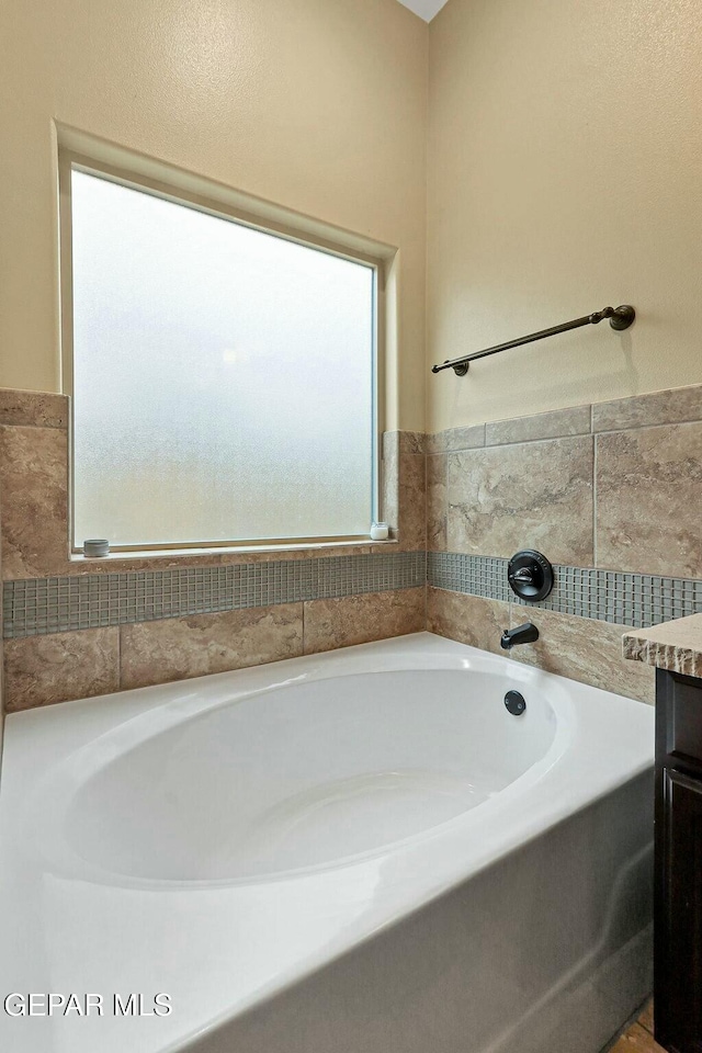
[[[543,608],[603,622],[647,629],[658,622],[702,612],[702,580],[650,574],[625,574],[554,564],[555,585],[540,603],[514,596],[507,584],[507,559],[430,552],[428,582],[438,589],[468,592],[521,607]]]

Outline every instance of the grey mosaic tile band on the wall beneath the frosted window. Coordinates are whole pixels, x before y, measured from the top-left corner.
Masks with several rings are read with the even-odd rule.
[[[401,552],[5,581],[3,636],[411,589],[426,584],[426,565],[424,552]]]

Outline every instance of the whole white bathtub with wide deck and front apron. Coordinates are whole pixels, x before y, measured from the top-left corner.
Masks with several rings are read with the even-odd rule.
[[[10,716],[0,996],[56,997],[0,1049],[597,1053],[650,988],[653,717],[427,633]]]

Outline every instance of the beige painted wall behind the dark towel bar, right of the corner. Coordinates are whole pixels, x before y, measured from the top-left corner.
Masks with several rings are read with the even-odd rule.
[[[449,0],[431,23],[428,430],[702,381],[697,0]]]

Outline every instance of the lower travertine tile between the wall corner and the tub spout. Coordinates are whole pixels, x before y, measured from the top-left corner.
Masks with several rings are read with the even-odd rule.
[[[505,654],[500,648],[500,636],[508,626],[509,603],[444,589],[427,590],[427,629],[430,633],[497,655]]]

